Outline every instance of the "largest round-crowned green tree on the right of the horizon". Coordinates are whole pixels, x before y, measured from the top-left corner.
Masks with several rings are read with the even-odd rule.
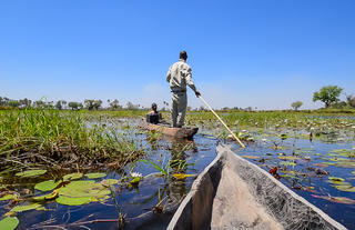
[[[343,89],[337,86],[323,87],[318,92],[314,92],[313,101],[322,101],[325,108],[328,108],[332,103],[339,101],[338,97],[342,91]]]

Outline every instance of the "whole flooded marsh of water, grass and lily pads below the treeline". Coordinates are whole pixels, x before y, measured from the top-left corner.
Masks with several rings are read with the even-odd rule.
[[[258,164],[348,228],[355,117],[300,111],[187,113],[193,141],[139,129],[144,111],[0,111],[1,222],[19,229],[164,229],[219,142]],[[163,112],[169,119],[169,113]],[[342,209],[339,214],[336,210]]]

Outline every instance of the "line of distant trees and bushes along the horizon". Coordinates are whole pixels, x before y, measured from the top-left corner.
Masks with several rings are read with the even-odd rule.
[[[324,102],[324,109],[327,111],[336,112],[336,111],[343,111],[346,112],[348,110],[349,112],[354,112],[352,110],[355,109],[355,97],[353,94],[346,94],[346,100],[341,101],[339,96],[343,92],[343,89],[337,86],[327,86],[323,87],[320,91],[314,92],[313,94],[313,101],[322,101]],[[125,107],[121,106],[119,103],[118,99],[113,100],[106,100],[108,106],[103,107],[102,100],[95,100],[95,99],[85,99],[83,102],[77,102],[77,101],[65,101],[65,100],[58,100],[58,101],[44,101],[44,100],[37,100],[32,101],[30,99],[9,99],[7,97],[0,97],[0,109],[24,109],[24,108],[43,108],[43,109],[57,109],[57,110],[111,110],[111,111],[119,111],[119,110],[150,110],[150,108],[145,108],[141,104],[134,104],[132,102],[126,102]],[[160,111],[168,111],[169,110],[169,103],[166,101],[163,101],[164,107],[160,109]],[[295,101],[291,103],[291,108],[294,111],[300,111],[300,108],[303,106],[302,101]],[[166,109],[168,108],[168,109]],[[257,110],[257,108],[254,108]],[[239,107],[224,107],[221,108],[221,111],[255,111],[252,107],[247,108],[239,108]],[[324,109],[320,109],[324,111]],[[187,107],[187,111],[205,111],[206,109],[204,107],[200,108],[191,108]],[[275,110],[258,110],[258,111],[275,111]],[[290,110],[278,110],[278,111],[290,111]],[[303,112],[311,112],[314,110],[302,110]]]

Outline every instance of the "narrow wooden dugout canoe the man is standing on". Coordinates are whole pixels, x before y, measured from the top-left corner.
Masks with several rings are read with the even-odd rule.
[[[169,124],[163,124],[163,123],[154,124],[154,123],[148,123],[145,121],[142,121],[142,123],[143,123],[142,127],[148,130],[155,130],[173,138],[191,139],[199,131],[199,128],[190,128],[190,127],[172,128]]]

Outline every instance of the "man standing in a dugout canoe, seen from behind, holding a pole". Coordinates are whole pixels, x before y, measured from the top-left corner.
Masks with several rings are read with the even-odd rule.
[[[166,74],[166,81],[171,89],[172,122],[173,127],[179,128],[184,126],[185,122],[187,107],[186,84],[189,84],[189,87],[195,92],[197,98],[201,96],[192,81],[191,68],[186,63],[186,60],[187,53],[183,50],[180,52],[179,61],[169,68]]]

